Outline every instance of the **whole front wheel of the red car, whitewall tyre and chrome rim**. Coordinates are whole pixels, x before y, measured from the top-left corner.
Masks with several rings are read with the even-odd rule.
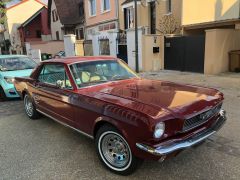
[[[114,127],[101,127],[95,144],[101,162],[116,174],[132,174],[142,162],[132,154],[127,141]]]

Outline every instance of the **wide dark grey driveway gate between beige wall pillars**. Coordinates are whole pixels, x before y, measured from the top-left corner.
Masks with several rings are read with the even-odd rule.
[[[204,72],[205,36],[165,38],[164,68]]]

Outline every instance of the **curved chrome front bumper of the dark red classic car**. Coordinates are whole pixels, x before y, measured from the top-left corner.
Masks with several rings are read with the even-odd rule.
[[[136,146],[139,149],[146,151],[150,154],[157,155],[157,156],[165,156],[174,151],[186,149],[186,148],[189,148],[191,146],[194,146],[194,145],[204,141],[205,139],[207,139],[208,137],[210,137],[211,135],[216,133],[223,126],[223,124],[225,123],[226,120],[227,120],[226,112],[224,110],[221,110],[220,117],[216,120],[216,122],[209,129],[201,131],[200,133],[195,134],[194,136],[192,136],[188,139],[173,142],[170,144],[165,144],[165,145],[159,146],[157,148],[153,148],[153,147],[147,146],[145,144],[141,144],[141,143],[136,143]]]

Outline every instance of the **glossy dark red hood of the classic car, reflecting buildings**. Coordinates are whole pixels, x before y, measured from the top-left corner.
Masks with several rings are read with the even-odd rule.
[[[215,89],[146,79],[112,83],[100,93],[109,95],[108,99],[119,97],[141,106],[164,109],[177,118],[189,118],[223,100],[222,94]]]

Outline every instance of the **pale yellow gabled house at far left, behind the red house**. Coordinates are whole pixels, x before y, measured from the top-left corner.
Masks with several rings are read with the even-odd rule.
[[[7,31],[4,36],[5,39],[11,41],[11,50],[14,53],[22,54],[22,45],[18,27],[33,16],[45,4],[38,0],[23,0],[20,3],[7,8]]]

